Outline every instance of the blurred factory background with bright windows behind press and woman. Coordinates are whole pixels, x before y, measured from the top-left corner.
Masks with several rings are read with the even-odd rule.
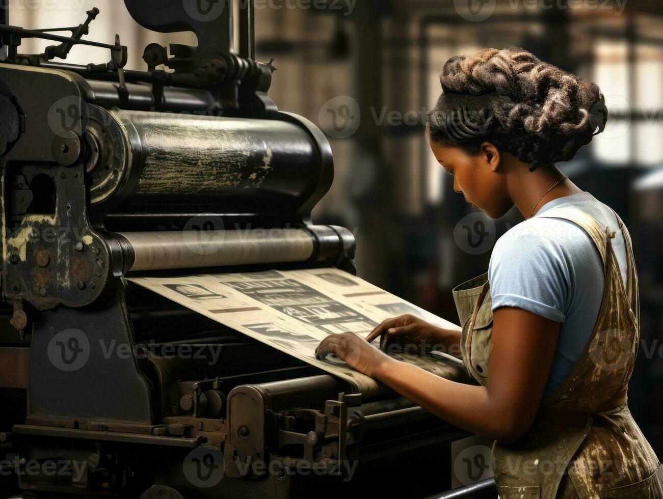
[[[6,1],[6,0],[3,0]],[[237,0],[246,1],[246,0]],[[359,275],[457,321],[453,286],[485,272],[493,243],[522,217],[491,221],[453,192],[428,150],[426,109],[455,54],[522,46],[599,84],[611,118],[562,170],[617,210],[634,239],[641,300],[629,405],[663,455],[663,9],[660,0],[255,0],[257,58],[274,58],[271,97],[317,123],[335,156],[333,188],[316,223],[345,225]],[[196,44],[133,23],[119,0],[10,0],[10,23],[74,26],[101,14],[90,37],[129,46],[129,69],[149,42]],[[158,38],[158,37],[156,37]],[[46,43],[21,47],[36,53]],[[74,49],[68,61],[107,62]]]

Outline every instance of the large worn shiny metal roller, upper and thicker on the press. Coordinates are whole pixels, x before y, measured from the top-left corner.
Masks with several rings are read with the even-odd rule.
[[[329,144],[299,117],[89,108],[87,169],[103,192],[93,205],[227,206],[235,195],[294,212],[331,185]]]

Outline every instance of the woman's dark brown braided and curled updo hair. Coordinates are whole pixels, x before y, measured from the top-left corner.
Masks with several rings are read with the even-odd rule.
[[[511,152],[530,170],[568,161],[605,129],[608,111],[595,83],[517,47],[452,57],[442,95],[428,113],[430,139],[471,154],[482,142]]]

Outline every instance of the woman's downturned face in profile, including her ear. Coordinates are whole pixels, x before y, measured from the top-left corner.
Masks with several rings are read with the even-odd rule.
[[[494,219],[511,209],[513,201],[507,192],[504,168],[500,168],[501,153],[493,144],[484,142],[472,155],[458,146],[428,143],[444,170],[453,176],[453,190],[462,193],[465,201]]]

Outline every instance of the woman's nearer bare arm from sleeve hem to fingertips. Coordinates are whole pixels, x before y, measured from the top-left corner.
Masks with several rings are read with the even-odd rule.
[[[318,355],[336,353],[353,368],[377,378],[445,421],[512,442],[527,431],[536,416],[559,333],[559,322],[519,308],[497,309],[487,387],[446,380],[391,359],[352,333],[328,337]]]

